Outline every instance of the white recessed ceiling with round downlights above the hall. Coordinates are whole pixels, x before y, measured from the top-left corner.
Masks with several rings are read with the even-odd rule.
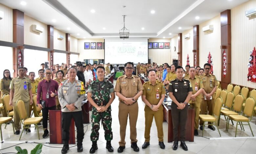
[[[22,1],[26,5],[21,5]],[[130,30],[130,38],[172,38],[246,1],[248,0],[0,0],[0,3],[83,39],[118,38],[119,30],[123,28],[122,15],[126,15],[125,27]],[[92,13],[92,10],[95,12]],[[151,13],[152,10],[155,11],[154,14]],[[196,16],[199,19],[195,19]]]

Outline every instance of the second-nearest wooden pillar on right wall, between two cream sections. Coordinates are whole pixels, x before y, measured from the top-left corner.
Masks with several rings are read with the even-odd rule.
[[[193,62],[194,67],[199,65],[199,25],[193,27]]]

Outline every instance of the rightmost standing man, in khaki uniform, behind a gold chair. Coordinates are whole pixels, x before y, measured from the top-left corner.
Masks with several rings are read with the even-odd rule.
[[[203,82],[203,94],[204,94],[204,99],[201,103],[201,114],[208,114],[212,115],[213,114],[213,109],[215,105],[215,91],[218,86],[217,79],[215,75],[210,74],[211,70],[211,64],[205,63],[204,66],[204,74],[200,75],[202,82]],[[207,111],[208,109],[208,111]],[[200,121],[200,130],[203,130],[203,121]],[[215,130],[214,126],[211,125],[211,122],[208,122],[208,128],[211,130]]]

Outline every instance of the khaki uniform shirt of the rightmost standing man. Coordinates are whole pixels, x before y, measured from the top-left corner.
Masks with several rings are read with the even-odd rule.
[[[209,76],[207,76],[204,73],[203,75],[200,75],[200,77],[203,82],[204,91],[207,94],[209,94],[215,86],[218,86],[218,82],[215,75],[209,74]],[[215,93],[212,94],[212,99],[214,98],[215,98]]]

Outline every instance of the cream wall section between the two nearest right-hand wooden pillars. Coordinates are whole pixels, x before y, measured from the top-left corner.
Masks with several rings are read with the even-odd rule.
[[[221,15],[199,25],[199,58],[200,67],[207,63],[207,55],[212,55],[213,74],[221,81]],[[202,28],[213,25],[213,31],[203,32]]]

